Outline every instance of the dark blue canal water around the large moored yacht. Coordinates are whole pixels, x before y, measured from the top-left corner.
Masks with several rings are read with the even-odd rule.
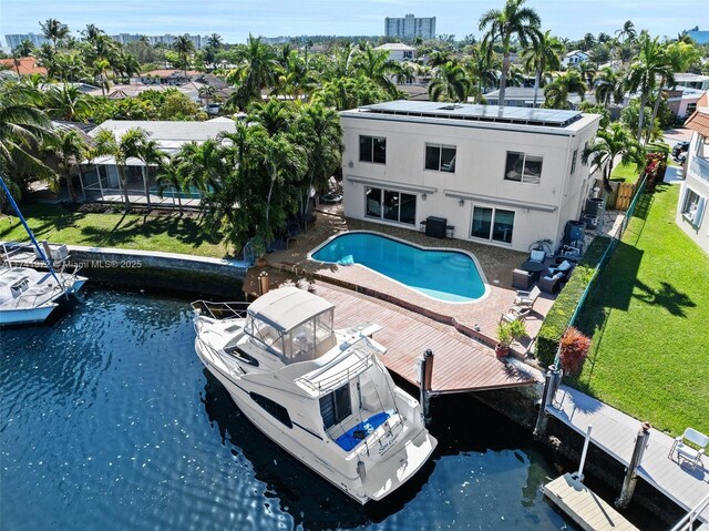
[[[0,331],[2,530],[576,529],[531,435],[470,397],[435,398],[433,459],[359,507],[239,413],[188,308],[90,285],[49,325]]]

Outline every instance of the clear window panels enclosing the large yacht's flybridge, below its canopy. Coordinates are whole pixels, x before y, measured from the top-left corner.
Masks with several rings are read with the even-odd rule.
[[[280,357],[286,365],[322,356],[335,344],[332,308],[314,316],[282,334],[256,316],[249,316],[246,333]]]

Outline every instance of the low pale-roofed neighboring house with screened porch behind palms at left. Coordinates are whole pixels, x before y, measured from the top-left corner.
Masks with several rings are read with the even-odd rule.
[[[166,155],[174,155],[183,144],[196,142],[202,144],[208,139],[217,139],[222,133],[234,133],[236,122],[234,120],[214,119],[206,122],[158,122],[158,121],[127,121],[107,120],[92,130],[89,134],[95,137],[100,131],[111,131],[120,139],[131,129],[142,129],[148,134],[150,140],[158,144],[158,149]],[[114,194],[119,190],[119,171],[112,156],[99,156],[91,161],[84,161],[82,166],[82,188],[86,197],[103,198],[105,194]],[[138,194],[143,193],[142,161],[129,159],[126,163],[126,176],[129,190]],[[151,169],[151,193],[157,194],[155,182],[156,169]],[[194,191],[196,194],[196,191]],[[193,194],[193,195],[194,195]],[[119,198],[119,201],[121,201]]]

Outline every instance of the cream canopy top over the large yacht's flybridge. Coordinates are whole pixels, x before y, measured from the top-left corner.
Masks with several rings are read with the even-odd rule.
[[[333,307],[305,289],[287,286],[258,297],[248,307],[248,313],[284,333]]]

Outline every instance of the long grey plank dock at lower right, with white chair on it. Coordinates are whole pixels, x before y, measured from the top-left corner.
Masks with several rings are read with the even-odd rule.
[[[593,425],[592,442],[624,466],[629,464],[639,420],[566,386],[559,388],[546,411],[582,435]],[[674,442],[668,435],[650,429],[638,476],[689,511],[709,494],[709,458],[705,456],[702,466],[695,470],[679,466],[669,458]],[[699,519],[709,521],[709,508]]]

